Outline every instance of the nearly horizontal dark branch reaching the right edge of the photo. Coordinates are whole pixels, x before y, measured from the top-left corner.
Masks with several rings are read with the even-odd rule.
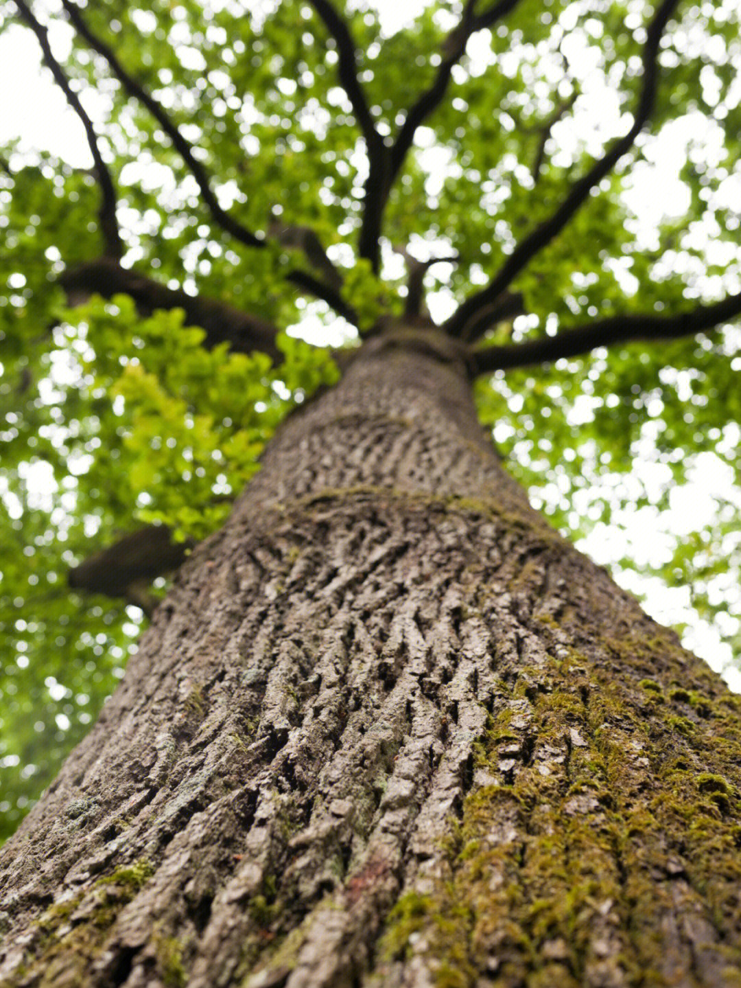
[[[692,336],[741,315],[741,292],[711,305],[698,305],[677,315],[625,315],[600,319],[556,336],[527,340],[506,347],[475,350],[471,362],[476,374],[506,371],[578,357],[597,347],[612,347],[632,340],[673,340]]]

